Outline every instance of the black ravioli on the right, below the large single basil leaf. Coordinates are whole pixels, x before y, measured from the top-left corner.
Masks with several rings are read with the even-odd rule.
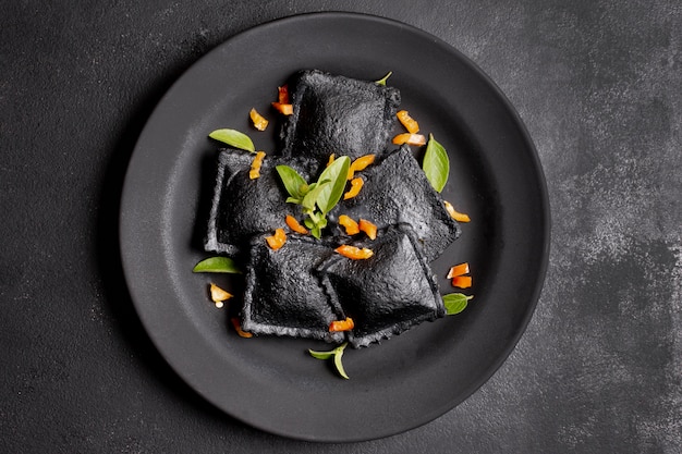
[[[460,235],[460,225],[444,208],[407,146],[358,172],[365,180],[360,194],[342,200],[330,213],[367,219],[379,229],[409,223],[428,261],[438,258]]]

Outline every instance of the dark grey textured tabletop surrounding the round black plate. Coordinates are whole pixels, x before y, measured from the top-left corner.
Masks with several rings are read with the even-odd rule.
[[[661,1],[2,1],[0,452],[679,453],[682,11]],[[170,84],[263,22],[343,10],[448,41],[507,94],[551,201],[534,319],[465,403],[355,444],[280,439],[188,389],[123,286],[135,139]]]

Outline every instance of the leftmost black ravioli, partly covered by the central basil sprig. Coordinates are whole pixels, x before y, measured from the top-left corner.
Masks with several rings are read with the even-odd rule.
[[[288,194],[276,167],[284,163],[279,157],[263,161],[260,177],[251,180],[248,171],[255,155],[235,149],[223,149],[218,157],[218,174],[214,189],[205,249],[235,256],[246,251],[253,235],[273,232],[284,226],[287,214],[300,217],[299,206],[287,204]],[[315,167],[306,160],[285,160],[304,179]]]

